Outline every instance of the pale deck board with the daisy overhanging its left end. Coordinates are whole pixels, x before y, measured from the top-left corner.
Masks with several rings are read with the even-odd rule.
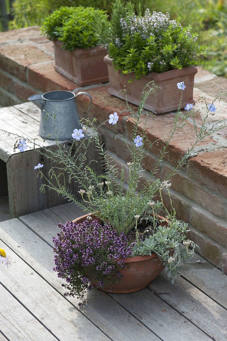
[[[74,339],[94,341],[94,335],[97,340],[109,340],[4,242],[1,242],[1,246],[11,256],[12,265],[11,268],[2,267],[0,282],[23,302],[23,305],[51,330],[53,335],[61,341]],[[32,257],[33,252],[29,254],[29,258]]]

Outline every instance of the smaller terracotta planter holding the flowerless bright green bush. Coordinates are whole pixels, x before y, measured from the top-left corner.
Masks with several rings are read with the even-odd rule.
[[[76,48],[67,51],[62,42],[54,41],[55,70],[76,84],[85,86],[109,80],[107,64],[103,61],[105,48],[95,46],[88,50]]]

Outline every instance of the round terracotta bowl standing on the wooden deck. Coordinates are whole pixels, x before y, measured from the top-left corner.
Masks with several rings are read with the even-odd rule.
[[[89,214],[79,217],[73,220],[73,222],[76,224],[82,223],[88,215]],[[91,217],[101,222],[101,220],[94,215],[91,215]],[[157,215],[157,217],[161,220],[165,220],[165,218],[161,216]],[[165,225],[165,223],[161,223],[161,225]],[[120,283],[114,284],[114,290],[110,290],[110,287],[108,286],[104,286],[100,288],[100,290],[114,294],[128,294],[139,291],[150,284],[165,268],[155,253],[152,253],[151,256],[127,257],[125,258],[125,263],[128,264],[128,267],[120,270],[124,276]]]

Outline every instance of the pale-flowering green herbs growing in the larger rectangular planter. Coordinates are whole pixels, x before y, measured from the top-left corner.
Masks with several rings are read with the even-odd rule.
[[[95,27],[115,69],[135,72],[136,78],[151,71],[199,65],[199,56],[206,51],[205,46],[198,46],[197,34],[170,20],[168,13],[147,9],[144,16],[136,15],[134,5],[121,0],[113,4],[111,20],[97,17]]]

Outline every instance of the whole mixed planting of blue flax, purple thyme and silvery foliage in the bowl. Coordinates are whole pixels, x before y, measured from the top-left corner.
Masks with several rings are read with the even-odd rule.
[[[15,149],[20,152],[25,151],[25,145],[28,148],[39,147],[44,165],[34,165],[34,172],[41,176],[41,191],[45,193],[46,189],[54,190],[90,213],[83,223],[68,222],[59,225],[61,232],[54,238],[55,270],[59,277],[66,280],[67,295],[77,296],[84,301],[87,289],[105,285],[114,287],[121,279],[120,269],[124,268],[126,257],[151,255],[154,252],[166,266],[168,276],[174,280],[185,259],[193,256],[195,244],[186,237],[188,224],[176,219],[170,179],[187,161],[198,143],[227,127],[224,121],[209,123],[209,114],[216,110],[215,102],[227,93],[217,96],[212,103],[207,103],[202,97],[204,106],[200,109],[195,109],[194,102],[188,103],[185,110],[181,110],[186,87],[187,84],[184,84],[183,80],[176,84],[175,91],[180,91],[181,95],[172,128],[165,138],[154,142],[150,142],[146,134],[147,120],[152,120],[153,115],[144,112],[144,105],[148,96],[156,95],[157,87],[153,82],[144,87],[136,112],[128,104],[126,90],[122,90],[127,109],[133,118],[130,137],[125,139],[122,136],[131,155],[127,170],[119,169],[115,165],[98,134],[100,127],[105,124],[117,126],[119,116],[116,112],[100,125],[96,119],[81,120],[82,129],[72,130],[73,142],[70,147],[59,142],[53,113],[47,114],[47,117],[53,120],[55,150],[44,148],[24,136],[17,136],[20,141],[16,141]],[[196,117],[199,110],[200,114],[203,111],[203,118],[198,123]],[[144,124],[141,127],[142,120]],[[166,178],[160,179],[157,175],[158,169],[168,152],[168,146],[186,124],[193,124],[194,142],[175,163]],[[85,137],[84,130],[88,128],[91,133]],[[147,151],[152,151],[157,143],[160,153],[150,171],[150,177],[145,181],[143,160]],[[90,144],[95,144],[99,151],[99,160],[89,160]],[[53,162],[48,175],[43,172],[45,159]],[[103,165],[103,174],[96,173],[97,162]],[[79,194],[69,190],[66,180],[79,185]],[[164,201],[164,193],[170,205]],[[170,208],[167,209],[167,206]],[[163,219],[157,215],[160,210],[165,212]]]

